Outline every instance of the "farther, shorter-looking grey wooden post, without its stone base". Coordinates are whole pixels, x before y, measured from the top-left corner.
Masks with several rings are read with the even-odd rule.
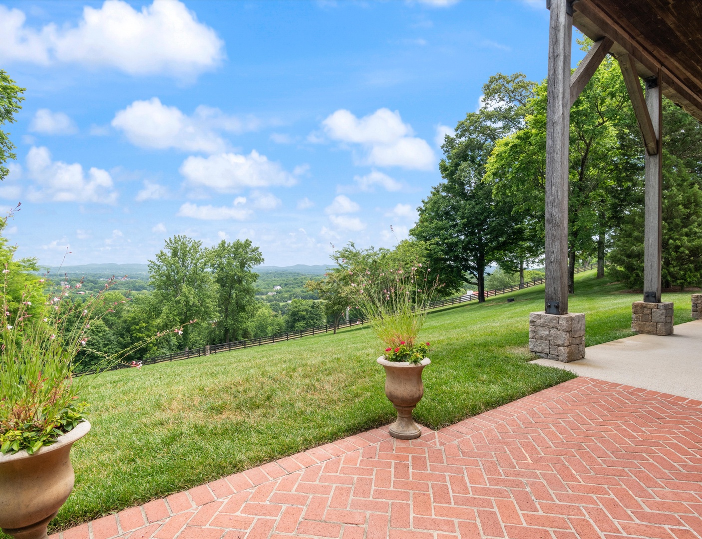
[[[663,159],[661,152],[661,87],[658,79],[646,81],[646,106],[658,140],[656,154],[645,157],[644,301],[661,302],[661,238],[663,235]]]

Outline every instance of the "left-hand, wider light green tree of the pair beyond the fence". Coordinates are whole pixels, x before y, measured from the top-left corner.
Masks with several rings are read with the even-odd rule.
[[[176,235],[155,260],[149,260],[150,284],[161,307],[161,329],[183,326],[183,345],[191,347],[193,335],[216,319],[217,284],[208,271],[202,242]],[[196,324],[190,324],[193,320]]]

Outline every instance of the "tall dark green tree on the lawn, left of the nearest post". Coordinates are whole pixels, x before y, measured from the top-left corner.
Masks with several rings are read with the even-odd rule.
[[[484,301],[486,267],[493,262],[511,267],[519,245],[529,241],[524,216],[511,202],[496,199],[483,178],[495,143],[524,125],[533,86],[519,73],[492,76],[478,112],[469,112],[455,134],[444,139],[445,157],[439,163],[444,182],[422,201],[410,231],[428,246],[444,291],[468,282]]]

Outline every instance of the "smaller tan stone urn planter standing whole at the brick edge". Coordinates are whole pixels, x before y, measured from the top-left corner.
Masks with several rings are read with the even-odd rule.
[[[431,360],[425,357],[419,364],[411,365],[385,361],[380,356],[378,363],[385,368],[385,395],[397,410],[397,421],[390,425],[390,436],[401,440],[420,437],[422,430],[412,419],[412,411],[424,395],[422,371]]]

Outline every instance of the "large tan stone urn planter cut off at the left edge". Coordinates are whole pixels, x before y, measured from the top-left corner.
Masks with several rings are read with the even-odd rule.
[[[90,430],[79,423],[51,446],[0,455],[0,527],[15,539],[44,539],[46,526],[73,490],[69,453]]]

